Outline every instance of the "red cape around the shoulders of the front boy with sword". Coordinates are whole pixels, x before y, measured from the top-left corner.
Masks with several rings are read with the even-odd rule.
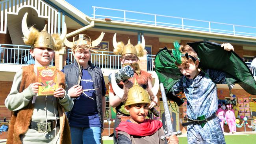
[[[129,135],[134,136],[149,136],[154,134],[158,129],[160,129],[163,124],[159,120],[144,120],[141,124],[134,124],[132,122],[121,122],[119,126],[115,129],[117,131],[124,131]]]

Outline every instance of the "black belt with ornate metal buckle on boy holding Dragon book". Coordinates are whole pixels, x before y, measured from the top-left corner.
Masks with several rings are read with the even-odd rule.
[[[56,121],[53,120],[53,121],[47,121],[47,130],[46,130],[46,122],[34,122],[32,121],[30,123],[30,126],[28,128],[30,129],[35,129],[37,130],[39,133],[43,133],[43,132],[50,132],[52,131],[52,129],[55,128],[55,125],[56,125]],[[59,119],[57,120],[57,127],[59,126]]]

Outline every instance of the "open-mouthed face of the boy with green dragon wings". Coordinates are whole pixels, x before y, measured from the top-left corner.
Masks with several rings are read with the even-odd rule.
[[[196,61],[195,63],[188,63],[188,65],[180,65],[178,68],[184,76],[189,79],[193,79],[199,74],[198,65],[199,62]]]

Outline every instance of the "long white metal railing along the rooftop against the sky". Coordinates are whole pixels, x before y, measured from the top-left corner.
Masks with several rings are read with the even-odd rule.
[[[122,9],[93,6],[92,16],[94,19],[111,18],[111,20],[121,22],[132,22],[152,26],[164,26],[186,30],[207,31],[210,33],[224,33],[229,35],[256,37],[256,27],[253,26],[241,26],[191,18],[171,17]]]

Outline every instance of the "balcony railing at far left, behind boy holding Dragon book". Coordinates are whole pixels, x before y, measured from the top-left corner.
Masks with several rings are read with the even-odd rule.
[[[35,60],[30,55],[31,46],[15,45],[15,44],[0,44],[0,63],[12,65],[30,65],[34,64]],[[54,65],[54,62],[50,63]]]

